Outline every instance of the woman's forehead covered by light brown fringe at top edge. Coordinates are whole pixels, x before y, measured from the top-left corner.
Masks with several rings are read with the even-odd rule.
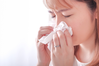
[[[73,0],[44,0],[45,5],[51,10],[61,10],[72,8]]]

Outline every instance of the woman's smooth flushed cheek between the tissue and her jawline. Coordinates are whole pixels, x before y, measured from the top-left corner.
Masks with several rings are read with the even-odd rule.
[[[94,30],[94,25],[88,17],[73,20],[71,24],[73,30],[73,44],[78,45],[86,41]]]

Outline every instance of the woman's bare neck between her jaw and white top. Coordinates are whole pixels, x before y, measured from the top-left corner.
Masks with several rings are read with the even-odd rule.
[[[81,62],[89,62],[94,56],[95,50],[95,33],[84,43],[79,45],[76,57]]]

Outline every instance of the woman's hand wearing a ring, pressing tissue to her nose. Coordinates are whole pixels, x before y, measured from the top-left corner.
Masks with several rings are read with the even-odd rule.
[[[64,33],[57,31],[57,33],[53,35],[51,60],[53,66],[73,66],[74,47],[68,30],[65,30]]]

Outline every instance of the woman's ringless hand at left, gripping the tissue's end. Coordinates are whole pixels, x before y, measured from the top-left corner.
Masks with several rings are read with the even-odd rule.
[[[37,54],[38,54],[38,64],[37,66],[49,66],[50,63],[50,51],[47,48],[47,44],[42,44],[38,40],[46,35],[49,34],[51,31],[53,31],[53,28],[51,26],[45,26],[45,27],[40,27],[40,30],[38,31],[38,36],[37,36]]]

